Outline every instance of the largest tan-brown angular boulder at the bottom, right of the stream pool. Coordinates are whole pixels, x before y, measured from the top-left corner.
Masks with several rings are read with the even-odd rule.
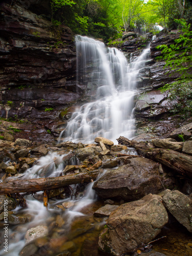
[[[112,212],[100,234],[99,248],[117,256],[133,252],[141,243],[153,240],[167,222],[161,197],[149,194]]]

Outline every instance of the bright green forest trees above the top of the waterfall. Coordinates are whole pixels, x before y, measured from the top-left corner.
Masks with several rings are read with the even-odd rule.
[[[185,0],[51,0],[50,4],[53,24],[105,42],[132,30],[157,33],[157,24],[177,29],[178,19],[192,22],[191,3]]]

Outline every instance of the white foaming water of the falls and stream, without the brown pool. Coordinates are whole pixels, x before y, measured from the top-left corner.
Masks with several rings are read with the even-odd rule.
[[[88,83],[90,91],[92,87],[95,87],[95,84],[97,85],[94,88],[95,92],[92,91],[95,100],[83,104],[73,114],[66,128],[64,140],[92,142],[96,136],[103,136],[115,141],[120,135],[128,138],[134,136],[133,97],[135,84],[139,70],[144,66],[145,57],[150,51],[149,48],[144,50],[134,61],[127,63],[124,55],[117,49],[106,49],[104,44],[94,39],[80,38],[80,41],[77,42],[77,45],[79,44],[77,49],[82,48],[79,57],[83,57],[78,59],[77,75],[83,69],[84,73],[79,83]],[[84,52],[87,50],[87,53]],[[92,72],[90,73],[90,71]],[[63,135],[64,132],[60,138]],[[25,172],[22,179],[58,176],[65,167],[63,156],[65,155],[59,156],[52,152],[39,158],[38,162]],[[19,212],[19,215],[20,212],[29,214],[32,221],[13,226],[13,228],[10,226],[9,252],[1,250],[0,255],[18,256],[19,251],[25,246],[26,231],[38,225],[48,226],[50,224],[49,219],[53,216],[61,216],[66,221],[62,229],[69,230],[74,218],[83,216],[81,209],[96,200],[92,186],[93,182],[87,186],[86,193],[81,198],[72,197],[71,202],[74,203],[74,206],[65,211],[57,209],[56,205],[70,201],[69,199],[49,200],[49,207],[46,209],[42,201],[28,196],[26,199],[27,208],[20,209],[17,207],[16,212]],[[75,194],[76,186],[73,186],[73,190]],[[54,234],[54,236],[56,236],[54,238],[60,238],[59,234]]]

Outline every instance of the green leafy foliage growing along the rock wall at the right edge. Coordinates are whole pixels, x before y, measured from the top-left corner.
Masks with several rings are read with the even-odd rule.
[[[163,90],[168,90],[168,99],[174,103],[174,113],[184,114],[187,118],[192,113],[192,31],[190,25],[184,19],[176,20],[182,27],[182,34],[175,40],[175,44],[161,45],[157,49],[162,50],[166,61],[165,67],[169,67],[170,75],[173,72],[180,73],[180,77],[171,84],[166,84]]]

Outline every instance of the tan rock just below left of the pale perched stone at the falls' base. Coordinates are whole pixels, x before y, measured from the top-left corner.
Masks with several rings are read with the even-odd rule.
[[[101,148],[98,146],[84,147],[76,150],[75,155],[80,161],[84,161],[86,158],[94,158],[95,155],[99,155]]]

